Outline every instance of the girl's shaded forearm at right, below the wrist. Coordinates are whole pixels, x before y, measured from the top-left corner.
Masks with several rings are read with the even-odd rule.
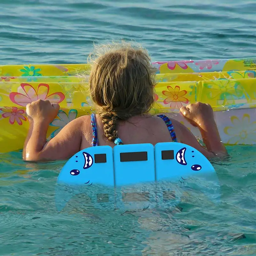
[[[216,155],[228,155],[225,146],[221,142],[220,134],[215,122],[211,124],[200,124],[198,128],[208,151]]]

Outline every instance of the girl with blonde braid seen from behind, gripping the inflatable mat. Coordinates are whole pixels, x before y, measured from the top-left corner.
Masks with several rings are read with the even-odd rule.
[[[108,47],[106,47],[108,48]],[[154,78],[150,58],[132,46],[108,49],[93,63],[89,78],[91,98],[97,114],[81,116],[46,142],[49,124],[60,106],[48,100],[27,105],[29,131],[23,148],[26,161],[68,159],[78,151],[97,145],[177,141],[188,144],[211,158],[227,155],[220,141],[209,104],[180,108],[190,124],[198,127],[206,148],[178,121],[167,115],[148,114],[154,102]]]

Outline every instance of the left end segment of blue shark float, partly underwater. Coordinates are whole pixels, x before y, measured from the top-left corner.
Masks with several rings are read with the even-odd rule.
[[[81,193],[91,198],[88,206],[114,209],[112,148],[110,146],[90,147],[76,153],[61,169],[57,185],[62,185],[56,186],[55,201],[58,211],[65,207],[72,196]],[[69,189],[63,185],[68,185]]]

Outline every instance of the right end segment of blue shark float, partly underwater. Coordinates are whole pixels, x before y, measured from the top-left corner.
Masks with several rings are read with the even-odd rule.
[[[164,183],[172,182],[172,190],[176,187],[172,193],[178,195],[177,202],[181,193],[193,189],[203,192],[214,203],[220,202],[218,176],[210,161],[195,148],[178,142],[157,143],[155,162],[157,186],[163,187]],[[164,207],[166,196],[161,192],[162,189],[160,192],[157,190],[157,203]]]

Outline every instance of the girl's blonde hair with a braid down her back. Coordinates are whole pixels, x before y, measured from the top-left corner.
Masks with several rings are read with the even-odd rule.
[[[92,62],[89,87],[108,140],[118,137],[117,120],[148,113],[152,107],[153,70],[148,53],[141,47],[123,43],[98,48]]]

